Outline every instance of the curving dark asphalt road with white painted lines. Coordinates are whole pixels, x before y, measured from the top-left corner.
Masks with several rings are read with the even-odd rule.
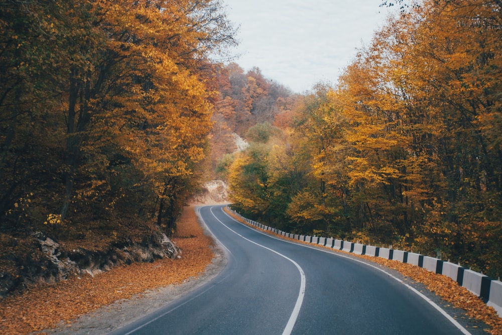
[[[256,231],[222,208],[204,206],[199,212],[226,250],[225,269],[113,334],[468,333],[390,274]]]

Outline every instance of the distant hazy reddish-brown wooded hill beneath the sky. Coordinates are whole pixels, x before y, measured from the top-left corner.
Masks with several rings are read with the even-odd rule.
[[[224,171],[236,151],[235,135],[247,138],[257,124],[286,125],[300,95],[264,77],[255,67],[244,73],[235,63],[222,67],[214,77],[219,92],[212,117],[212,148],[209,171]]]

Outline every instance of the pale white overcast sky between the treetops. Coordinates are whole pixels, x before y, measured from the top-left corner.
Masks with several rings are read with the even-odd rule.
[[[233,52],[244,71],[262,74],[295,92],[336,83],[356,49],[369,44],[389,10],[380,0],[222,0],[240,25]]]

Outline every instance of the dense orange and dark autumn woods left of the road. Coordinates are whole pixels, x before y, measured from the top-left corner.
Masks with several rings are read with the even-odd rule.
[[[0,294],[173,233],[233,33],[212,0],[0,2]]]

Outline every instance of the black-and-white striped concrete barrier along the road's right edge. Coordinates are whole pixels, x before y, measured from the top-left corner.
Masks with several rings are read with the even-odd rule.
[[[413,264],[434,273],[448,276],[456,281],[458,285],[465,287],[470,292],[483,299],[483,301],[488,306],[493,307],[496,310],[497,314],[502,317],[502,282],[500,282],[500,280],[495,280],[486,275],[483,275],[482,273],[471,271],[470,269],[464,268],[458,264],[445,262],[438,258],[424,256],[417,253],[391,248],[366,246],[358,243],[336,240],[333,238],[286,233],[243,217],[235,211],[233,212],[252,226],[261,228],[265,231],[276,233],[280,236],[284,236],[290,239],[321,245],[356,255],[367,255],[373,257],[381,257],[389,260],[396,260],[402,263]]]

